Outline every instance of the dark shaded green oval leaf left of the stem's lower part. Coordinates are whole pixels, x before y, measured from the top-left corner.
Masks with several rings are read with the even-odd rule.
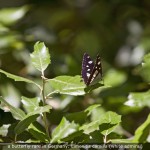
[[[22,133],[32,122],[36,121],[36,118],[39,114],[30,115],[25,117],[22,121],[20,121],[15,127],[14,131],[16,134]]]

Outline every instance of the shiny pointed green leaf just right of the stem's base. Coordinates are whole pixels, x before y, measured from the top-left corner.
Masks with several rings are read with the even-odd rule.
[[[59,142],[61,139],[66,138],[70,134],[78,131],[79,125],[74,122],[69,122],[62,118],[60,124],[53,130],[51,143]]]

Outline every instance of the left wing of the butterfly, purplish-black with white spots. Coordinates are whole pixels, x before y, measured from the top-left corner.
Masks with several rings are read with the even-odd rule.
[[[84,53],[83,60],[82,60],[81,74],[85,84],[87,84],[89,80],[93,67],[94,67],[94,62],[91,60],[90,56],[87,53]]]

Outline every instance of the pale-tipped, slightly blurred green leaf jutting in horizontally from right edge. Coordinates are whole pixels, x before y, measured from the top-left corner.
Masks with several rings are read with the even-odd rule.
[[[134,92],[128,96],[125,105],[130,107],[149,107],[150,108],[150,90],[146,92]]]

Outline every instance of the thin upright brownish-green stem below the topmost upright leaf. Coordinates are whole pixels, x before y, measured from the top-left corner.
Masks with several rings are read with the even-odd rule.
[[[45,77],[44,76],[42,76],[42,99],[43,99],[43,106],[45,106],[46,105],[46,99],[45,99]],[[47,122],[47,118],[46,118],[46,112],[43,113],[43,121],[45,124],[47,136],[50,139],[49,130],[48,130],[48,122]]]

